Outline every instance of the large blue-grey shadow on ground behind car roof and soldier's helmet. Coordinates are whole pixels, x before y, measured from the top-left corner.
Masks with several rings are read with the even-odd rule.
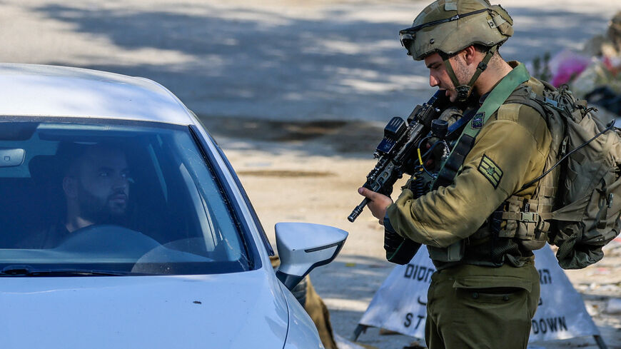
[[[146,10],[131,2],[108,8],[50,1],[31,11],[124,51],[159,49],[190,57],[178,64],[128,64],[110,56],[108,64],[84,67],[158,81],[201,115],[386,122],[409,113],[432,93],[425,67],[408,59],[396,39],[410,19],[377,21],[356,16],[357,6],[348,6],[325,5],[308,18],[208,3]],[[423,4],[389,6],[415,13]],[[558,9],[509,11],[515,39],[503,51],[520,61],[576,46],[608,20]],[[106,62],[88,51],[82,56]],[[66,64],[62,57],[41,63]]]

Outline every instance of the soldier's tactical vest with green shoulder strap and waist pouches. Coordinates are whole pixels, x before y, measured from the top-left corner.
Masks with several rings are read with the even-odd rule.
[[[502,104],[520,103],[530,106],[536,103],[530,101],[532,98],[531,88],[522,84],[528,79],[530,76],[524,66],[520,65],[500,81],[495,88],[498,90],[490,93],[483,106],[470,121],[470,128],[467,127],[464,130],[453,148],[453,152],[438,173],[438,180],[434,183],[433,189],[437,189],[439,186],[448,186],[453,182],[453,178],[460,171],[465,157],[474,145],[478,131]],[[540,108],[535,110],[540,111]],[[542,115],[545,114],[542,113]],[[556,183],[554,180],[552,182]],[[537,212],[545,212],[546,210],[550,212],[551,201],[546,201],[547,196],[540,194],[542,191],[554,194],[555,192],[552,192],[554,190],[555,188],[537,187],[529,200],[519,195],[511,196],[485,221],[478,231],[467,239],[458,241],[448,248],[428,246],[430,258],[438,269],[463,263],[500,266],[508,262],[515,266],[524,265],[527,260],[532,259],[532,250],[541,248],[547,241],[545,232],[549,228],[549,224],[542,221],[537,216]],[[553,198],[553,195],[551,197]]]

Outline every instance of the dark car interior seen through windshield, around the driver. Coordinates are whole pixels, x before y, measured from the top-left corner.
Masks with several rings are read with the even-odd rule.
[[[168,258],[243,264],[240,261],[247,258],[243,236],[213,171],[205,166],[196,144],[188,143],[191,137],[185,132],[126,125],[0,123],[1,251],[32,250],[33,246],[23,245],[31,234],[65,219],[62,179],[67,160],[59,149],[67,144],[113,143],[123,148],[132,179],[129,219],[123,228],[157,243],[157,248],[146,244],[148,248],[136,252],[136,262],[146,265]],[[107,238],[120,237],[127,246],[131,234],[119,231]],[[73,253],[92,253],[101,246],[97,256],[112,255],[105,250],[109,241],[102,231],[90,233],[82,245],[72,235],[71,243],[53,249],[72,246]]]

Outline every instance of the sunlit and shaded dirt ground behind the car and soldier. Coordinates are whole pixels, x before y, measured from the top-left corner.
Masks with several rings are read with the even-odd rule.
[[[368,213],[346,217],[391,116],[431,94],[397,41],[430,0],[0,0],[0,61],[79,66],[153,79],[205,116],[273,238],[278,221],[350,232],[313,272],[335,332],[353,333],[393,268]],[[503,56],[532,61],[602,34],[619,0],[499,0],[515,21]],[[295,121],[295,122],[291,122]],[[609,348],[621,348],[621,251],[568,273]],[[400,349],[412,338],[360,341]],[[344,342],[342,349],[353,348]],[[345,348],[347,346],[347,348]],[[595,348],[590,338],[544,348]]]

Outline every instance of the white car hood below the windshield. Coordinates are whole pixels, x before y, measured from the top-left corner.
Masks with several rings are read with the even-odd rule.
[[[0,278],[2,348],[283,348],[288,311],[265,270]]]

